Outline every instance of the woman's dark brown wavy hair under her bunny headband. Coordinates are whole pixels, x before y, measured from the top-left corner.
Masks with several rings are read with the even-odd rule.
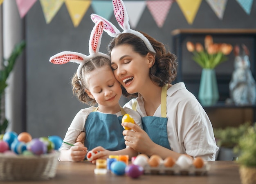
[[[158,42],[144,32],[140,33],[149,40],[156,53],[150,52],[145,43],[138,36],[130,33],[121,33],[108,44],[109,55],[114,47],[124,44],[131,45],[133,51],[139,53],[141,56],[146,56],[148,52],[150,52],[155,56],[155,63],[149,71],[150,79],[160,87],[171,83],[177,76],[177,57],[167,51],[163,43]],[[123,86],[122,92],[126,97],[137,96],[137,93],[129,94]]]

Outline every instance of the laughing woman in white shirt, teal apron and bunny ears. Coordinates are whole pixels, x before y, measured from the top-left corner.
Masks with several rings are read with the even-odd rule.
[[[176,77],[175,55],[147,34],[130,29],[124,3],[113,0],[116,19],[124,32],[120,33],[108,20],[102,20],[105,31],[115,38],[108,45],[111,65],[116,79],[136,99],[125,106],[137,110],[142,117],[142,130],[132,123],[123,126],[125,144],[148,156],[157,154],[163,159],[181,154],[215,160],[216,141],[211,122],[195,96],[184,83],[171,85]],[[117,31],[116,31],[117,30]],[[104,148],[95,148],[94,151]],[[95,157],[97,157],[95,155]]]

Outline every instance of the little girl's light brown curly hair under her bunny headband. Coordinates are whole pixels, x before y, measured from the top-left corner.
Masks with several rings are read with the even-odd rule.
[[[71,81],[72,90],[76,98],[79,99],[79,101],[81,101],[82,103],[86,103],[88,105],[95,105],[97,103],[95,99],[92,99],[85,92],[85,89],[88,89],[88,83],[85,79],[86,79],[86,75],[88,75],[90,72],[98,68],[101,68],[105,65],[108,65],[111,69],[111,63],[108,58],[97,56],[95,58],[90,59],[83,65],[81,69],[81,79],[80,77],[77,76],[77,72],[75,72]]]

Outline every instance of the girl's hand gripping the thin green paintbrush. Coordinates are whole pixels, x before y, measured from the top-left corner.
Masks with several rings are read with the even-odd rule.
[[[86,153],[87,148],[81,142],[76,142],[68,150],[69,160],[71,162],[80,162],[85,158]]]

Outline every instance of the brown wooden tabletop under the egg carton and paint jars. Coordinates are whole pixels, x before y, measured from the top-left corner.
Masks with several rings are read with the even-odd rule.
[[[95,175],[90,162],[59,162],[56,176],[43,181],[0,181],[4,184],[241,184],[235,161],[209,162],[208,175],[141,175],[137,179],[112,173]]]

